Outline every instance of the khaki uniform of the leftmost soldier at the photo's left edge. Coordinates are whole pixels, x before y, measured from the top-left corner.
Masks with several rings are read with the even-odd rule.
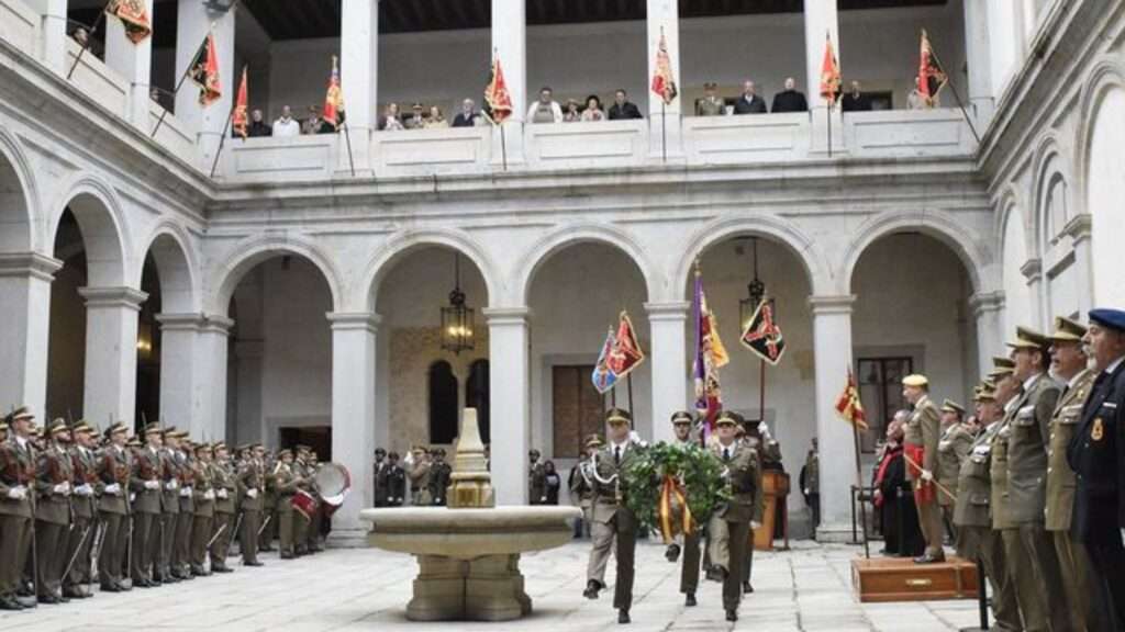
[[[32,443],[16,436],[0,444],[0,599],[15,599],[20,571],[32,547],[34,520],[35,452]],[[9,498],[11,489],[27,490],[24,498]]]

